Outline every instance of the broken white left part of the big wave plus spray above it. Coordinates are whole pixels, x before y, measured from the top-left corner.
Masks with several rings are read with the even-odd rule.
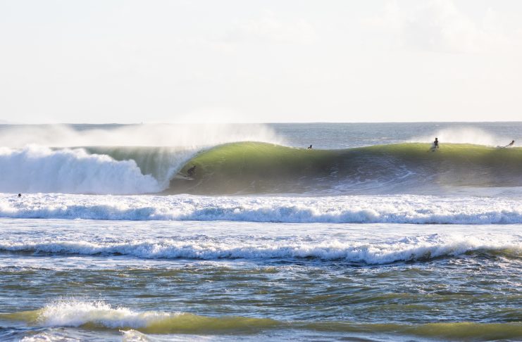
[[[206,148],[281,143],[266,125],[3,125],[0,191],[146,194]]]

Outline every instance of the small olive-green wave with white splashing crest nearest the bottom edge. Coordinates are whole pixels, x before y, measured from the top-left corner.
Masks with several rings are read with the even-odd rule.
[[[379,332],[406,334],[424,338],[512,339],[522,336],[522,324],[514,323],[430,323],[430,324],[360,324],[353,322],[281,322],[270,318],[241,316],[201,316],[186,312],[137,311],[115,308],[100,301],[61,300],[45,308],[2,313],[1,319],[25,321],[37,327],[89,327],[123,330],[125,338],[145,341],[145,334],[255,334],[270,329],[308,329],[311,331]],[[37,333],[23,339],[51,341],[52,332]]]

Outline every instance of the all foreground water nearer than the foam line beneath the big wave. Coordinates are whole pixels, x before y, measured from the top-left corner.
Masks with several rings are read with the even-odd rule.
[[[6,339],[522,337],[520,225],[3,219],[0,238]]]

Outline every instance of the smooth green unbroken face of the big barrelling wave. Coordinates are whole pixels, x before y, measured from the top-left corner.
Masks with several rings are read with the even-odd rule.
[[[196,166],[194,179],[184,179]],[[391,144],[308,150],[245,142],[189,160],[169,194],[394,194],[455,186],[522,186],[522,149]]]

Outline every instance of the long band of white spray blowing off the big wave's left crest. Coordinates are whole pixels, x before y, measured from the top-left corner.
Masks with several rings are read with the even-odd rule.
[[[144,124],[144,125],[4,125],[0,146],[174,146],[208,147],[236,141],[284,144],[267,125]]]

